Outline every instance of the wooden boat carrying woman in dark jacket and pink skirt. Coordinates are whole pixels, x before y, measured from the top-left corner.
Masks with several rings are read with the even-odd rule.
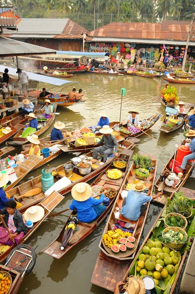
[[[24,242],[26,242],[26,240],[38,229],[38,227],[43,223],[43,221],[49,216],[49,214],[51,213],[51,211],[64,199],[64,197],[62,195],[60,195],[57,192],[53,192],[51,195],[49,195],[48,197],[46,197],[43,201],[41,201],[39,204],[37,204],[38,206],[41,206],[44,208],[45,210],[45,215],[43,216],[43,218],[34,223],[34,226],[32,229],[30,229],[26,235],[24,235],[24,237],[21,239],[20,244],[24,244]],[[0,255],[0,262],[2,262],[3,260],[6,259],[6,257],[8,256],[8,254],[11,252],[11,250],[15,247],[15,245],[12,245],[9,247],[8,250],[6,250],[5,252],[3,252]]]

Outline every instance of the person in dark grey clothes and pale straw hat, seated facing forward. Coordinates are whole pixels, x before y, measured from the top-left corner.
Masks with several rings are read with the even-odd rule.
[[[118,143],[115,138],[111,133],[113,132],[113,129],[109,127],[109,125],[104,125],[99,132],[103,134],[101,140],[97,142],[95,145],[100,145],[103,144],[103,146],[96,147],[94,149],[94,159],[97,159],[98,153],[103,153],[103,162],[106,162],[106,159],[108,158],[109,155],[113,154],[118,155]],[[115,149],[115,152],[114,152]]]

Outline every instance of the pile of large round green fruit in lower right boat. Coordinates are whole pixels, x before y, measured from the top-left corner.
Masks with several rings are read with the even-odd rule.
[[[171,280],[179,257],[179,252],[171,251],[160,241],[148,240],[136,262],[135,274],[151,276],[155,285],[161,287],[162,282],[166,285]]]

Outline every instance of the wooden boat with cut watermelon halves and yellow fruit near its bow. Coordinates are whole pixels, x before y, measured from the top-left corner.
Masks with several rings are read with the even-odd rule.
[[[145,185],[148,188],[147,196],[152,196],[152,192],[153,192],[157,161],[153,160],[153,163],[154,163],[154,170],[150,172],[149,177],[145,181]],[[134,172],[135,172],[135,167],[134,167],[134,163],[132,163],[129,171],[127,172],[125,180],[123,181],[123,184],[117,196],[117,199],[113,205],[112,211],[106,223],[103,234],[106,234],[107,231],[111,230],[113,225],[116,224],[118,220],[135,224],[136,226],[132,234],[132,236],[136,239],[136,244],[134,243],[135,247],[132,250],[127,249],[125,252],[119,252],[116,254],[112,252],[110,248],[104,245],[103,240],[101,238],[99,243],[100,251],[97,257],[96,265],[95,265],[94,272],[91,279],[91,282],[93,284],[99,287],[105,288],[109,291],[114,291],[116,280],[120,281],[122,279],[124,273],[129,267],[129,263],[135,257],[137,246],[140,242],[140,238],[142,235],[142,231],[144,229],[144,225],[146,222],[147,213],[149,209],[150,202],[147,202],[147,210],[138,219],[138,221],[129,221],[125,219],[121,214],[119,218],[115,217],[116,208],[119,208],[119,211],[121,211],[121,208],[122,208],[122,195],[121,195],[122,191],[126,190],[125,187],[127,182],[133,184],[134,180],[136,179]]]

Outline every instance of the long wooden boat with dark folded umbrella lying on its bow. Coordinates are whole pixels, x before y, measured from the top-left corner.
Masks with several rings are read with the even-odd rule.
[[[129,161],[131,159],[133,151],[130,150],[124,150],[117,158],[117,159],[126,159],[127,165],[126,165],[126,171],[122,172],[122,178],[118,180],[112,180],[109,179],[106,175],[106,172],[111,168],[111,164],[103,171],[100,173],[100,175],[97,177],[97,179],[91,184],[91,187],[94,185],[100,185],[106,188],[114,188],[117,192],[119,193],[119,190],[122,186],[122,183],[125,179],[125,175],[128,169]],[[73,234],[73,237],[71,238],[69,244],[65,247],[64,250],[60,249],[60,245],[62,242],[62,238],[64,235],[64,230],[66,228],[66,225],[69,221],[65,223],[64,227],[62,228],[59,236],[53,241],[48,247],[46,247],[42,252],[60,259],[62,256],[64,256],[69,250],[71,250],[75,245],[79,244],[83,239],[85,239],[89,234],[91,234],[99,225],[100,223],[106,219],[108,214],[110,213],[112,206],[115,202],[115,199],[117,197],[117,194],[115,197],[110,199],[110,203],[108,204],[106,210],[102,213],[102,215],[94,222],[92,223],[84,223],[84,222],[79,222],[77,224],[78,230],[76,231],[76,234]],[[71,214],[75,214],[75,212],[72,212]]]

